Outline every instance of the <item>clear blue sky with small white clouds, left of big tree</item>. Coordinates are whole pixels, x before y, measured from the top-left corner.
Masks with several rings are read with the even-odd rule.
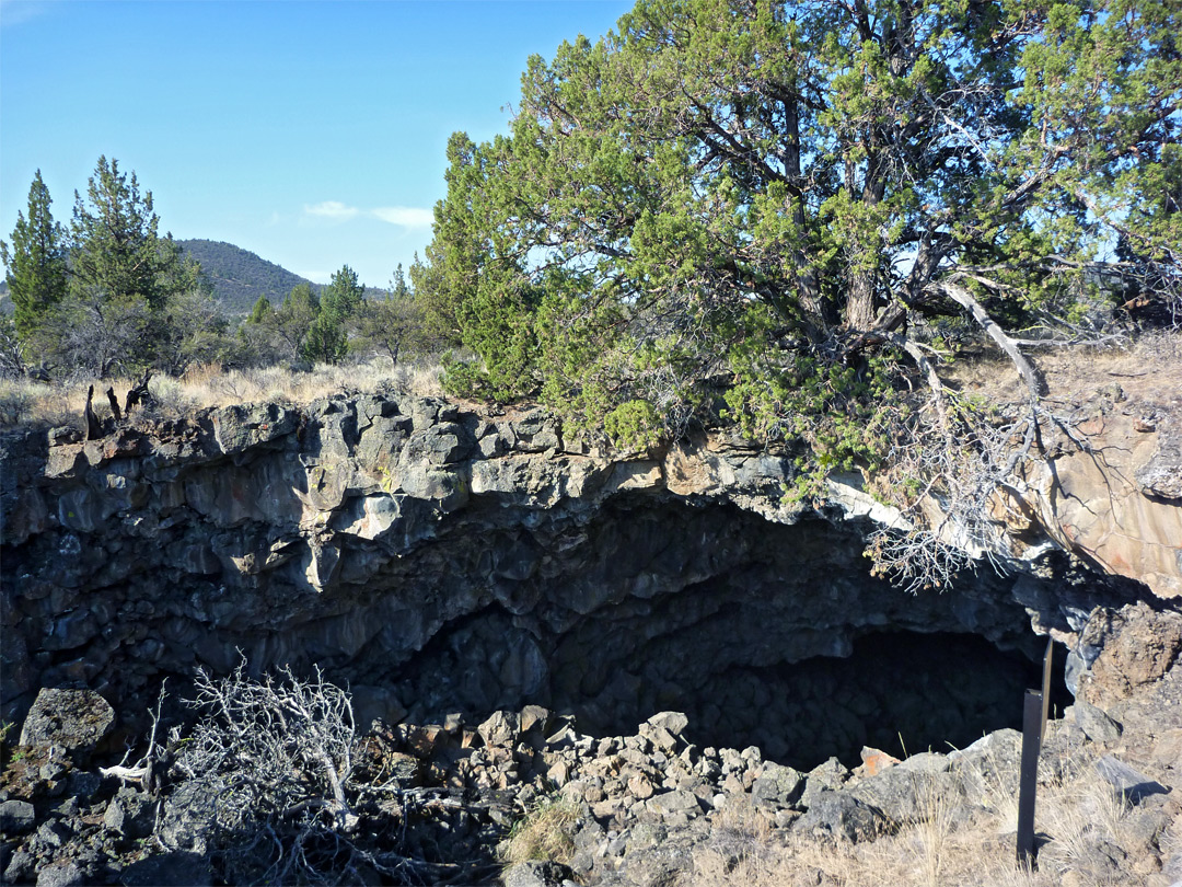
[[[0,238],[39,168],[69,222],[99,155],[162,231],[385,286],[430,241],[448,136],[505,131],[532,53],[617,0],[0,0]]]

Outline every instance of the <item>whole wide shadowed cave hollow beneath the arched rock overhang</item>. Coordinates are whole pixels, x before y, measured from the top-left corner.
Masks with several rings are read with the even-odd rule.
[[[521,530],[499,543],[483,608],[443,626],[389,681],[410,719],[475,723],[539,704],[605,737],[681,711],[689,742],[755,745],[798,769],[832,756],[856,765],[866,745],[949,751],[1020,726],[1046,645],[1024,602],[1056,617],[1044,581],[980,570],[908,595],[870,575],[865,527],[631,505],[573,536]]]

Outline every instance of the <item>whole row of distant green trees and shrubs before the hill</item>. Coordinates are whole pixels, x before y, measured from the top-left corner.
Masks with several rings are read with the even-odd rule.
[[[195,363],[293,368],[430,348],[400,265],[385,298],[364,299],[344,265],[319,293],[297,285],[233,322],[200,265],[160,233],[152,195],[135,171],[99,157],[69,226],[54,221],[40,170],[0,259],[13,315],[0,317],[0,373],[59,378],[181,375]]]

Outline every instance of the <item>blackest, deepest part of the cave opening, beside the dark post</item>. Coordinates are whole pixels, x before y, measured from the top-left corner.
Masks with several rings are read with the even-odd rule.
[[[1071,703],[1061,649],[1057,660],[1052,714]],[[1000,650],[978,635],[888,632],[856,640],[845,658],[730,666],[691,694],[663,701],[687,713],[686,738],[699,745],[756,745],[764,757],[803,770],[831,756],[852,768],[866,745],[902,758],[962,749],[1002,727],[1021,729],[1024,693],[1041,680],[1040,661]],[[579,724],[592,732],[628,733],[652,713],[637,711],[613,723],[579,718]]]

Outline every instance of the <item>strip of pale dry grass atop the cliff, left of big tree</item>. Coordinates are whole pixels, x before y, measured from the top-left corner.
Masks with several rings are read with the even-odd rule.
[[[416,395],[441,395],[441,367],[436,361],[390,365],[389,361],[317,365],[311,373],[293,373],[281,367],[223,371],[214,364],[190,368],[182,377],[158,376],[149,383],[155,409],[175,417],[203,407],[234,403],[311,403],[344,391],[372,393],[394,389]],[[93,384],[95,409],[99,416],[110,408],[103,393],[111,387],[119,401],[134,380],[82,380],[69,383],[33,380],[0,380],[0,428],[21,426],[80,426],[86,389]]]

